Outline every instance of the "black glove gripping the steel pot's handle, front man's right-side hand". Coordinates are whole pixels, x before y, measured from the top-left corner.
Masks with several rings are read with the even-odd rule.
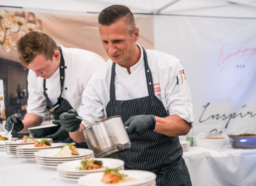
[[[140,136],[147,131],[153,131],[156,126],[156,119],[154,115],[136,115],[130,117],[125,122],[125,127],[129,126],[126,131],[128,134],[135,134]]]

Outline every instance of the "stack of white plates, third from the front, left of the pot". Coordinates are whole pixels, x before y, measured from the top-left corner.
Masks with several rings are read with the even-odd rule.
[[[79,155],[74,156],[56,156],[61,149],[50,149],[35,152],[35,158],[38,165],[43,167],[57,168],[57,165],[72,160],[81,160],[83,158],[93,158],[93,151],[85,148],[78,148]]]

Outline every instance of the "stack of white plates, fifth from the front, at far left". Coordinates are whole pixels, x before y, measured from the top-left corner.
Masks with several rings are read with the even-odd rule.
[[[14,138],[12,138],[14,139]],[[16,138],[17,139],[17,138]],[[42,139],[36,139],[37,141],[41,141]],[[49,142],[52,142],[51,138],[47,139]],[[23,143],[23,140],[16,140],[16,141],[6,141],[5,142],[5,152],[11,155],[17,155],[16,147],[18,146],[26,146],[26,145],[34,145],[35,142],[26,142]]]

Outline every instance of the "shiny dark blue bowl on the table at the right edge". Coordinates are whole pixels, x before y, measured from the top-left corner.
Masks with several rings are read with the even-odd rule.
[[[256,148],[256,136],[228,135],[233,148]]]

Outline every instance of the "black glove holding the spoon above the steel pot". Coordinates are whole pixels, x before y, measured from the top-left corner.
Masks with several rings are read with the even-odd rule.
[[[80,128],[81,119],[77,119],[78,116],[76,110],[71,109],[67,113],[60,115],[60,123],[63,129],[68,132],[77,131]]]

